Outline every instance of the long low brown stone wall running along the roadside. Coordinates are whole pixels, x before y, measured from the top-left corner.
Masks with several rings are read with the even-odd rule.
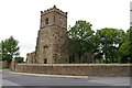
[[[132,64],[18,64],[15,72],[76,76],[130,76]]]

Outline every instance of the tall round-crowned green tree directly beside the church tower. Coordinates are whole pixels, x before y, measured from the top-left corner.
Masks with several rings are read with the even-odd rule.
[[[85,52],[90,53],[94,48],[94,43],[91,41],[95,32],[91,30],[91,26],[89,22],[80,20],[68,31],[70,51],[73,54],[78,55],[79,61]]]

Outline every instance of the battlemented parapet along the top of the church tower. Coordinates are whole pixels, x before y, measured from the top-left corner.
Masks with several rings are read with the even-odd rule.
[[[64,12],[64,11],[57,9],[56,6],[54,6],[53,8],[47,9],[47,10],[41,11],[41,15],[50,13],[50,12],[58,12],[58,13],[61,13],[63,15],[67,15],[67,12]]]

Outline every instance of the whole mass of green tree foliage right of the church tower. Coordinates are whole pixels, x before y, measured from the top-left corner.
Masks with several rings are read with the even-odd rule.
[[[91,26],[89,22],[80,20],[69,28],[70,52],[74,56],[78,55],[79,61],[94,59],[91,63],[96,59],[100,63],[132,62],[132,28],[125,33],[111,28],[95,32]],[[85,53],[88,53],[87,57],[82,57]]]

